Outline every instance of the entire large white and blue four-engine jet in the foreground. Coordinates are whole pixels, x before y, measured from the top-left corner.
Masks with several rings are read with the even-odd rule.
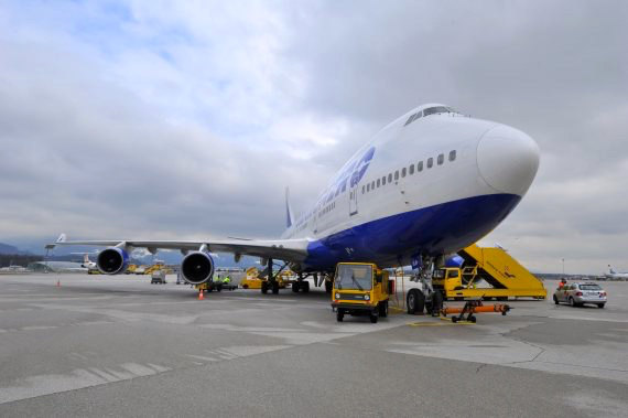
[[[62,234],[48,247],[108,247],[96,262],[109,275],[127,269],[133,248],[178,249],[182,275],[193,285],[212,280],[210,251],[258,256],[269,266],[279,259],[301,274],[331,272],[340,261],[430,266],[499,225],[538,168],[539,147],[520,130],[423,105],[365,143],[296,219],[286,191],[280,239],[69,242]]]

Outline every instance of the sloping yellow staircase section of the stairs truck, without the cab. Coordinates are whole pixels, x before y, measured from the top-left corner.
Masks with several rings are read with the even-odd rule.
[[[458,251],[464,259],[461,278],[464,285],[485,280],[502,297],[544,299],[543,282],[502,248],[483,248],[474,244]]]

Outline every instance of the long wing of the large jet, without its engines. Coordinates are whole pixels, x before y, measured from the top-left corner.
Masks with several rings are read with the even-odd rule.
[[[303,261],[307,256],[307,239],[207,239],[207,240],[139,240],[139,239],[105,239],[105,240],[67,240],[62,234],[54,244],[47,244],[46,249],[65,245],[94,245],[100,247],[123,247],[127,250],[147,248],[151,253],[159,249],[176,249],[183,254],[196,251],[202,247],[212,253],[232,253],[237,256],[256,256],[275,258],[284,261]]]

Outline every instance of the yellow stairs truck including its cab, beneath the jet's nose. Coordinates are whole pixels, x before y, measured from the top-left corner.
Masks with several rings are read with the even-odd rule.
[[[474,244],[458,255],[464,259],[463,268],[441,268],[432,276],[432,286],[443,293],[444,300],[545,299],[548,296],[543,282],[502,248]]]

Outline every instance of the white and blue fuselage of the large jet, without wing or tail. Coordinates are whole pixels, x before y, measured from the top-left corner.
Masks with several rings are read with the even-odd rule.
[[[538,146],[519,130],[455,112],[407,124],[434,106],[413,109],[378,132],[283,237],[305,237],[326,249],[335,245],[336,256],[340,251],[347,259],[375,257],[381,262],[412,253],[455,251],[490,232],[530,186],[539,165]],[[474,203],[480,196],[495,215],[473,214],[464,231],[456,224],[463,221],[458,216],[483,211],[480,201]],[[499,202],[509,207],[492,207]],[[387,232],[403,236],[383,237]],[[454,235],[459,239],[450,239]],[[379,257],[377,248],[371,253],[366,242],[381,244],[387,254]]]

